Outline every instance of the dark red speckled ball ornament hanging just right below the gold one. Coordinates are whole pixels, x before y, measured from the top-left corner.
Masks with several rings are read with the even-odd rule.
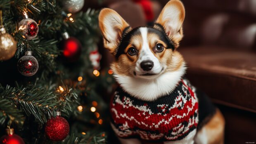
[[[38,70],[38,61],[32,56],[31,51],[25,52],[25,55],[18,61],[17,68],[23,76],[33,76]]]

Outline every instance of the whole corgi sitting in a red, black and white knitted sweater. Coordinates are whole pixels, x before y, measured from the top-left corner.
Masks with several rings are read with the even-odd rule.
[[[225,120],[209,98],[183,78],[178,52],[185,8],[170,0],[154,26],[131,28],[104,8],[99,26],[119,83],[110,104],[111,126],[122,144],[223,144]]]

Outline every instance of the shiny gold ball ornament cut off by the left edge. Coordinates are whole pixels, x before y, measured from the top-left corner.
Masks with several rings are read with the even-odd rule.
[[[9,33],[6,33],[5,28],[0,28],[0,60],[11,59],[17,50],[16,41]]]

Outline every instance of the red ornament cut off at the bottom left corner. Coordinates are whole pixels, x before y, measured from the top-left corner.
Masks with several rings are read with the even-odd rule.
[[[25,144],[19,135],[14,134],[13,128],[6,129],[7,135],[0,138],[0,144]]]

